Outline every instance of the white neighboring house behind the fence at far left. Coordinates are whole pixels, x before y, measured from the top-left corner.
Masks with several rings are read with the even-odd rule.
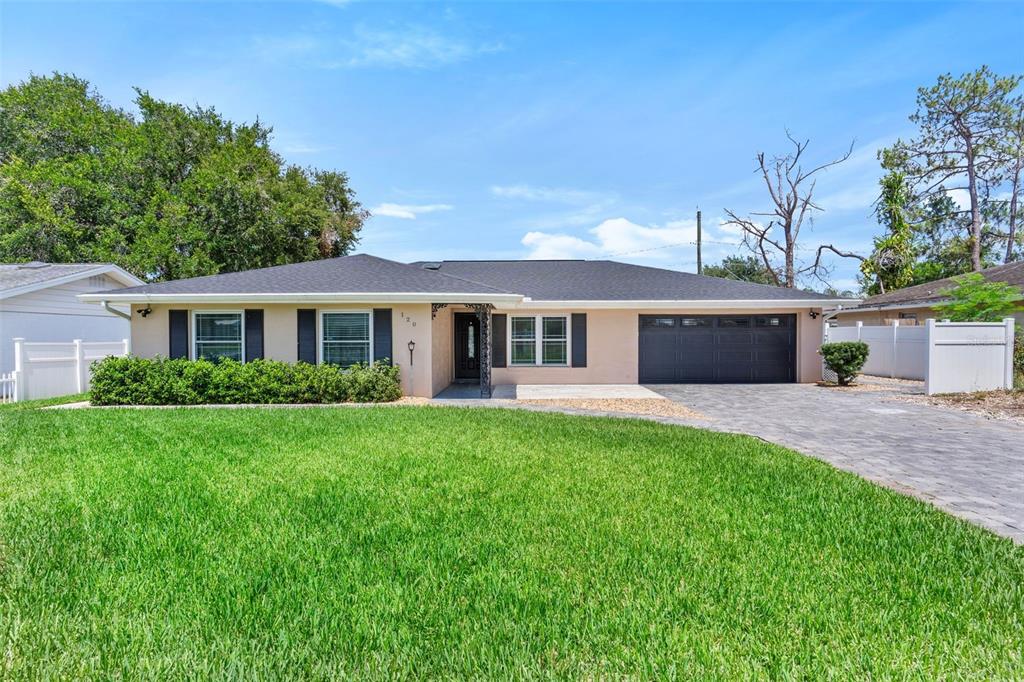
[[[14,369],[12,339],[119,341],[124,317],[76,298],[79,294],[143,284],[111,263],[0,264],[0,373]]]

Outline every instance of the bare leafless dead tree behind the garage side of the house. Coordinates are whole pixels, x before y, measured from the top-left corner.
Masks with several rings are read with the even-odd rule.
[[[849,159],[853,154],[853,142],[839,159],[805,170],[804,154],[811,140],[800,141],[788,130],[785,136],[794,146],[791,153],[769,158],[760,152],[757,156],[757,172],[768,187],[772,209],[753,212],[746,217],[725,209],[728,217],[725,224],[739,227],[743,232],[743,244],[761,259],[765,271],[772,273],[775,284],[792,289],[797,286],[799,274],[810,272],[820,275],[822,272],[820,248],[814,264],[802,269],[797,264],[800,230],[805,221],[810,221],[813,212],[823,210],[814,203],[815,175]],[[775,262],[778,259],[782,260],[781,266]]]

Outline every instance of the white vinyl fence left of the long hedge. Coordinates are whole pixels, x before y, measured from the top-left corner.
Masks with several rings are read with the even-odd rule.
[[[127,355],[128,339],[32,343],[14,339],[14,371],[0,376],[0,402],[36,400],[89,390],[89,365]]]

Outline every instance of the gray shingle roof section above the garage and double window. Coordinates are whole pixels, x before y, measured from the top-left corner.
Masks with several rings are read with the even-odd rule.
[[[415,263],[422,264],[422,263]],[[446,260],[450,274],[539,301],[821,300],[799,289],[710,278],[611,260]]]

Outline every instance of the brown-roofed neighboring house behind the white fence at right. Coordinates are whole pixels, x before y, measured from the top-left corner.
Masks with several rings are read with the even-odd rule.
[[[1024,291],[1024,261],[989,267],[980,270],[979,274],[989,282],[1006,282]],[[841,327],[852,327],[858,322],[864,325],[891,325],[893,321],[899,321],[901,325],[924,325],[929,317],[942,317],[932,306],[946,300],[942,292],[956,286],[953,280],[954,278],[946,278],[871,296],[854,306],[842,306],[830,317]],[[1014,317],[1017,325],[1024,325],[1024,309]]]

